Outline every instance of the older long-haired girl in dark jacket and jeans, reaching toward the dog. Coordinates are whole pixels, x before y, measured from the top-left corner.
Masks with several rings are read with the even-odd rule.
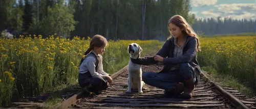
[[[169,19],[168,28],[173,37],[168,38],[154,56],[131,58],[131,61],[146,66],[163,63],[164,68],[159,73],[144,72],[143,81],[164,89],[166,96],[177,96],[184,92],[183,98],[191,98],[198,81],[197,75],[201,73],[197,61],[197,52],[201,50],[199,39],[180,15]]]

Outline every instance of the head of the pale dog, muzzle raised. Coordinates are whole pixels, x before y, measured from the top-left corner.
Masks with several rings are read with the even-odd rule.
[[[131,43],[128,46],[128,53],[131,55],[131,58],[133,59],[138,58],[141,51],[142,49],[137,43]]]

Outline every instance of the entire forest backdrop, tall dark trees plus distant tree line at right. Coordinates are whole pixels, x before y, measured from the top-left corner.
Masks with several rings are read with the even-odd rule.
[[[190,11],[190,0],[1,0],[0,32],[164,40],[169,36],[168,19],[175,14],[205,34],[256,30],[255,20],[197,19]]]

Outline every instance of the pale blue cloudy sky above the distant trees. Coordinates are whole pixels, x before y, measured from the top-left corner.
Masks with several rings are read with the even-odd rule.
[[[191,0],[190,5],[197,18],[256,19],[256,0]]]

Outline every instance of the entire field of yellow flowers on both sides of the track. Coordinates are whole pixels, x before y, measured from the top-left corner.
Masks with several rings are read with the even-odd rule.
[[[55,37],[55,38],[54,38]],[[248,85],[254,85],[253,61],[256,37],[200,38],[198,53],[201,67],[213,67]],[[0,106],[10,105],[11,99],[45,93],[61,84],[76,84],[78,64],[89,47],[88,39],[50,36],[20,36],[0,39]],[[156,53],[164,42],[157,40],[109,40],[103,56],[103,67],[114,73],[129,62],[127,46],[137,42],[142,56]]]

